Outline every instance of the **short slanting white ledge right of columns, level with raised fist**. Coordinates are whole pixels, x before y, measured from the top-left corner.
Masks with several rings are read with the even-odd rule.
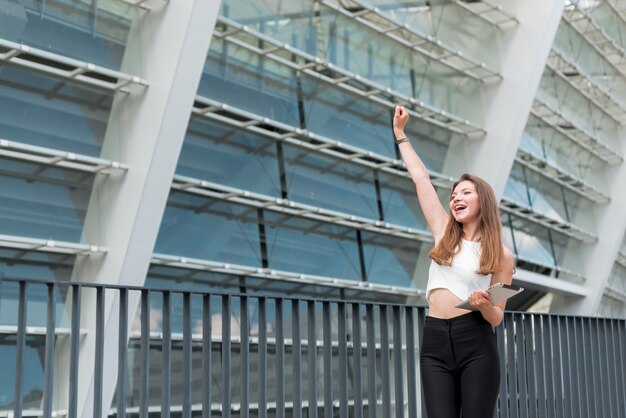
[[[623,157],[612,150],[598,138],[576,126],[572,121],[565,118],[561,112],[553,109],[547,103],[535,98],[531,113],[545,122],[552,129],[565,135],[572,142],[591,152],[599,159],[608,164],[619,164],[624,161]],[[571,126],[571,129],[564,129],[563,126]]]

